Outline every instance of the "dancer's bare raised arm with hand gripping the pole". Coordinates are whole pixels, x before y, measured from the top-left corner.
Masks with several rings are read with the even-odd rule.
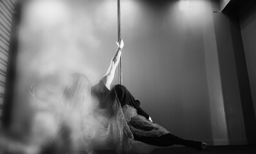
[[[102,81],[105,84],[105,87],[110,90],[110,85],[114,79],[114,73],[116,71],[116,67],[119,64],[120,57],[122,54],[122,48],[123,48],[123,40],[120,40],[120,42],[116,42],[118,49],[116,50],[116,53],[114,53],[113,58],[111,59],[111,63],[109,65],[109,69],[107,69],[107,73],[103,76]]]

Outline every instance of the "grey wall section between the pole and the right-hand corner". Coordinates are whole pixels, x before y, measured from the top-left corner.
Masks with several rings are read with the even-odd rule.
[[[179,1],[132,2],[136,13],[123,9],[123,84],[156,123],[181,137],[212,142],[204,21],[197,16],[206,10],[195,12]]]

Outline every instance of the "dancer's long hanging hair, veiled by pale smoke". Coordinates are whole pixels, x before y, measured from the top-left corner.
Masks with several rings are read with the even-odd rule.
[[[65,121],[66,116],[75,113],[80,115],[84,127],[87,117],[91,116],[92,106],[91,82],[82,73],[71,74],[58,108],[59,124]]]

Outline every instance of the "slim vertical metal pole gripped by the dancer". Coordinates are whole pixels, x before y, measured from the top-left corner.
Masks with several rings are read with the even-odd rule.
[[[117,0],[117,28],[118,28],[118,42],[121,40],[121,12],[120,12],[120,0]],[[122,56],[119,62],[120,84],[123,84],[122,74]]]

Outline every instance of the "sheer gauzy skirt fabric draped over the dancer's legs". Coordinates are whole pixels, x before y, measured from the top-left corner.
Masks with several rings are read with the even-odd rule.
[[[121,107],[118,98],[115,97],[111,108],[112,114],[107,127],[107,144],[117,153],[127,153],[131,150],[134,135],[139,137],[160,137],[166,135],[168,130],[159,124],[152,123],[136,112],[136,108],[130,105]]]

